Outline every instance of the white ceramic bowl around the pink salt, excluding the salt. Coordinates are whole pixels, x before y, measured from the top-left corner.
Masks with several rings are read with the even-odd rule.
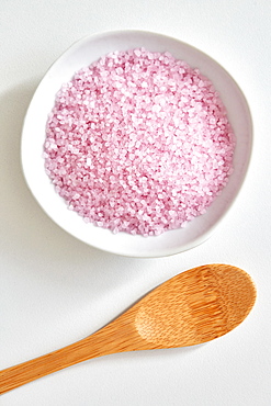
[[[112,234],[108,229],[87,224],[67,208],[45,173],[43,145],[48,113],[56,92],[74,74],[114,50],[145,47],[153,52],[170,52],[210,78],[224,102],[236,135],[234,173],[222,194],[204,215],[187,227],[166,232],[160,236],[142,237],[126,233]],[[142,31],[117,31],[91,35],[74,44],[49,68],[29,106],[22,132],[22,166],[26,182],[37,202],[66,232],[99,249],[128,257],[162,257],[178,253],[206,240],[228,212],[244,182],[252,147],[252,122],[247,101],[227,71],[199,49],[165,35]]]

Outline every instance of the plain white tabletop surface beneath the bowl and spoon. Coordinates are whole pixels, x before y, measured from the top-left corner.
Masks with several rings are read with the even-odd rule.
[[[195,266],[235,264],[258,287],[250,316],[213,342],[94,359],[1,396],[1,406],[271,404],[270,21],[269,0],[0,0],[0,369],[86,337]],[[46,69],[83,35],[120,29],[199,47],[251,108],[255,149],[236,204],[211,239],[170,258],[121,258],[78,241],[43,213],[21,171],[22,122]]]

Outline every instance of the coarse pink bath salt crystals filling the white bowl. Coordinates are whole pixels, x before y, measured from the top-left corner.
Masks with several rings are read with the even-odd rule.
[[[233,172],[212,82],[169,53],[114,52],[57,93],[44,144],[57,193],[87,223],[157,236],[202,215]]]

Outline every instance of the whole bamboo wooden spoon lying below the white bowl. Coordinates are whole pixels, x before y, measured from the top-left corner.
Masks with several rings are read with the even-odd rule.
[[[241,269],[227,264],[191,269],[83,340],[1,371],[0,394],[91,358],[213,340],[237,327],[255,301],[255,284]]]

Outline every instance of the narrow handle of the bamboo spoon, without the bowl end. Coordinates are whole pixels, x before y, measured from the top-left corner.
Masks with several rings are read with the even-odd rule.
[[[120,322],[118,318],[93,335],[60,350],[0,371],[0,394],[92,358],[136,349],[133,341],[138,340],[138,335],[129,323],[123,325]]]

